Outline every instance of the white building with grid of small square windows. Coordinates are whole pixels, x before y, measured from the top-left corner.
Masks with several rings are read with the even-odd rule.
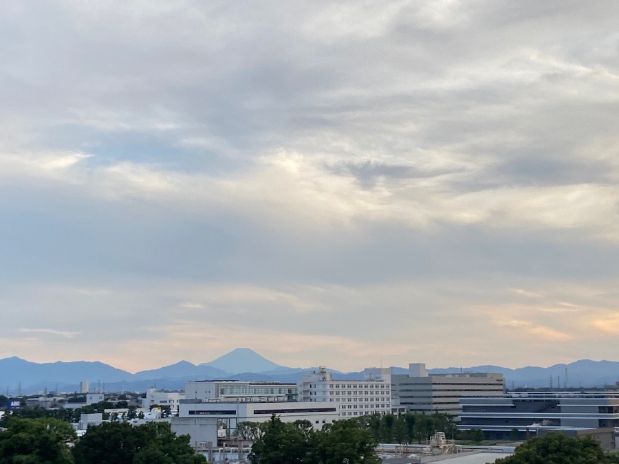
[[[363,379],[334,380],[325,366],[305,374],[299,382],[301,401],[336,406],[342,419],[391,412],[389,370],[366,369]]]

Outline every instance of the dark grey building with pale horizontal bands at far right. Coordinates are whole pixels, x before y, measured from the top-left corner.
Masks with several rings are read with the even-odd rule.
[[[619,427],[619,393],[548,392],[461,397],[458,428],[488,437],[512,432]]]

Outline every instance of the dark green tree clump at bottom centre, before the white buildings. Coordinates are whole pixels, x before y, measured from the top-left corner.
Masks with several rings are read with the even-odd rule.
[[[338,421],[316,432],[311,423],[283,423],[272,417],[252,445],[252,464],[377,464],[376,441],[353,420]]]

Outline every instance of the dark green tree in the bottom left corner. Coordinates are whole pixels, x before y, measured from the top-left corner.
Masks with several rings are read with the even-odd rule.
[[[9,417],[0,432],[0,464],[71,464],[66,443],[76,439],[71,424],[58,419]]]

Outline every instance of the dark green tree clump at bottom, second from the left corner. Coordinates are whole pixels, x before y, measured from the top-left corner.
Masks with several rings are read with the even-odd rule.
[[[189,437],[177,437],[169,423],[149,422],[132,427],[129,423],[102,423],[91,427],[73,448],[76,464],[199,464]],[[1,464],[1,463],[0,463]]]

